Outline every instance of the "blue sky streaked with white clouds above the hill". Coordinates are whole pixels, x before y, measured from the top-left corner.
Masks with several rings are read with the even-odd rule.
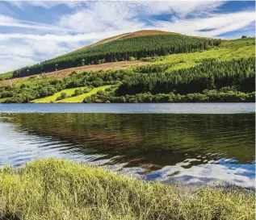
[[[221,39],[254,36],[255,2],[0,2],[0,73],[139,30]]]

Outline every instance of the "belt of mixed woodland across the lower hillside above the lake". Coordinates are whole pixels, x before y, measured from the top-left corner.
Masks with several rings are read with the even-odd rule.
[[[63,89],[103,85],[112,86],[84,102],[254,102],[254,57],[202,60],[172,73],[139,73],[140,69],[73,73],[62,80],[32,76],[12,87],[1,86],[0,102],[31,102]]]

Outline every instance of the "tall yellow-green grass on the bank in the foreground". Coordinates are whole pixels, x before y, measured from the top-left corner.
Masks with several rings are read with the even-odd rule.
[[[254,193],[138,181],[68,160],[0,172],[0,219],[254,219]]]

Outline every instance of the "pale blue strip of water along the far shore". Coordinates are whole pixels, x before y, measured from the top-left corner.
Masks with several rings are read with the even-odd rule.
[[[255,103],[0,104],[0,112],[238,114],[255,112]]]

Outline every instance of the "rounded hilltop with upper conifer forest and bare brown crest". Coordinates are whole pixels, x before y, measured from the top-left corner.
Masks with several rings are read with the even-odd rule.
[[[13,77],[48,73],[86,64],[141,59],[145,56],[193,52],[220,45],[220,39],[206,39],[160,31],[138,31],[103,40],[99,44],[15,70]]]

